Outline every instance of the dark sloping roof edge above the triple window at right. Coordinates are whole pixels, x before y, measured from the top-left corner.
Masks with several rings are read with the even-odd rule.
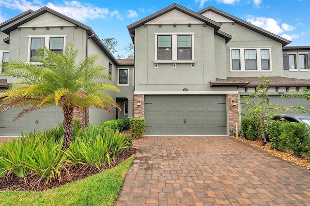
[[[255,25],[253,25],[253,24],[250,24],[250,23],[248,23],[248,22],[246,22],[246,21],[244,21],[244,20],[242,20],[240,18],[237,18],[237,17],[235,17],[233,15],[230,15],[230,14],[227,14],[227,13],[221,11],[221,10],[218,10],[218,9],[212,7],[212,6],[208,6],[207,8],[204,8],[204,9],[202,9],[201,11],[199,11],[197,13],[199,15],[202,15],[203,13],[205,13],[207,11],[211,11],[211,12],[216,13],[217,15],[224,16],[225,18],[228,18],[228,19],[234,21],[236,24],[239,24],[239,25],[241,25],[241,26],[243,26],[245,28],[251,29],[251,30],[253,30],[253,31],[257,32],[257,33],[260,33],[260,34],[262,34],[262,35],[264,35],[264,36],[266,36],[266,37],[268,37],[270,39],[273,39],[273,40],[281,43],[282,46],[285,46],[285,45],[290,44],[292,42],[292,41],[284,39],[284,38],[282,38],[282,37],[280,37],[280,36],[278,36],[276,34],[273,34],[273,33],[269,32],[269,31],[261,29],[261,28],[255,26]]]

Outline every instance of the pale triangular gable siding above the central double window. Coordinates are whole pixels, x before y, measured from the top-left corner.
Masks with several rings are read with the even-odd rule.
[[[186,15],[176,9],[161,15],[149,22],[147,24],[202,24],[203,22]]]

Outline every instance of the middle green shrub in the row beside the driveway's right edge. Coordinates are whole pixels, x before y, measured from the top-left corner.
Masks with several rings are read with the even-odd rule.
[[[270,139],[270,148],[277,149],[279,151],[284,150],[286,145],[286,139],[282,137],[284,131],[283,125],[287,124],[286,122],[281,121],[271,121],[267,132]]]

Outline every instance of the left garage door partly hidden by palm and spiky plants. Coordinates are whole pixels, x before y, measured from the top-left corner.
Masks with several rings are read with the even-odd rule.
[[[63,120],[60,107],[48,107],[32,111],[13,121],[20,108],[12,108],[0,113],[0,136],[18,136],[21,132],[42,131],[52,128]]]

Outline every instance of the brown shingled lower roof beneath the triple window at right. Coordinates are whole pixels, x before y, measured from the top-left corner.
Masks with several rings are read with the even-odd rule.
[[[280,76],[268,77],[269,87],[310,87],[310,79],[295,79]],[[210,87],[257,87],[263,83],[259,77],[227,77],[210,81]]]

